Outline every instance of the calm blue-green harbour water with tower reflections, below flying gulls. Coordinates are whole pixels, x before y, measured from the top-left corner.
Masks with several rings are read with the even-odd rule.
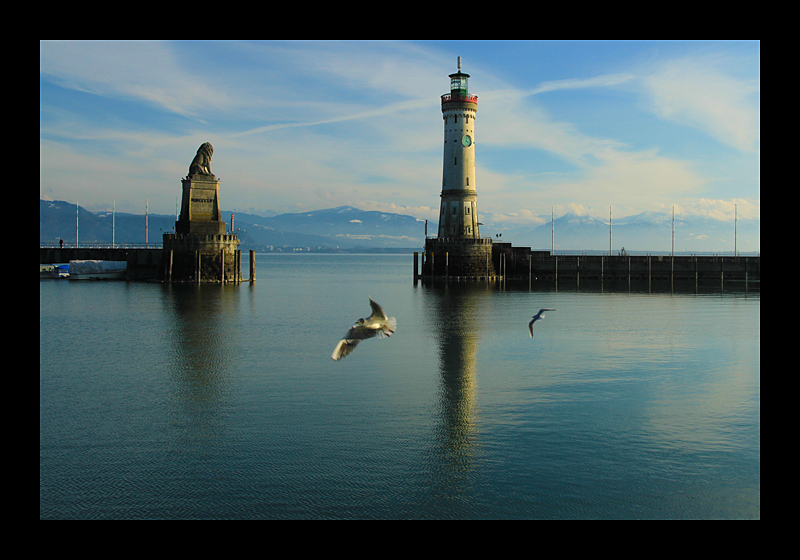
[[[761,516],[758,294],[415,287],[410,255],[257,267],[40,282],[40,518]],[[333,362],[368,295],[397,332]]]

